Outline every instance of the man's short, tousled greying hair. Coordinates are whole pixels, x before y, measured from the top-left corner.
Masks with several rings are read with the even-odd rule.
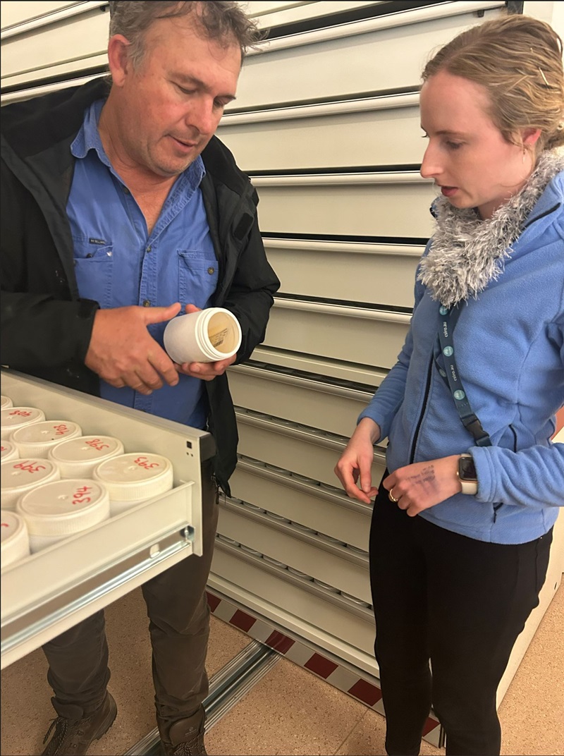
[[[144,56],[144,34],[160,18],[175,18],[194,14],[197,33],[221,45],[236,42],[241,60],[249,48],[262,38],[256,23],[237,2],[110,2],[110,36],[122,34],[128,39],[129,59],[134,67]]]

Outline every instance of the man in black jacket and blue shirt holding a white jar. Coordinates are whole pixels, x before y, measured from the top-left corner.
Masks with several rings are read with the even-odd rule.
[[[234,2],[110,3],[111,87],[88,82],[2,113],[2,364],[208,428],[204,555],[143,586],[166,754],[205,754],[205,587],[218,485],[237,427],[225,369],[173,364],[182,306],[237,317],[237,361],[262,341],[279,281],[249,179],[214,132],[256,27]],[[44,754],[85,754],[116,717],[104,615],[44,647],[57,718]],[[51,734],[52,733],[52,734]]]

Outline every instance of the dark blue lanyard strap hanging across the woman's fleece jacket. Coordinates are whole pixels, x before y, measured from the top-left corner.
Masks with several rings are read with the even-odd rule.
[[[443,370],[440,365],[439,372],[448,383],[448,387],[451,389],[452,398],[454,399],[454,406],[457,408],[457,412],[460,415],[463,426],[468,430],[476,441],[476,446],[491,446],[491,438],[488,433],[482,427],[479,418],[473,412],[472,407],[464,391],[460,374],[458,373],[457,362],[454,356],[454,326],[457,324],[460,317],[460,309],[453,307],[450,310],[448,307],[441,305],[438,308],[438,314],[441,316],[441,324],[438,327],[438,340],[441,345],[441,352],[445,364]]]

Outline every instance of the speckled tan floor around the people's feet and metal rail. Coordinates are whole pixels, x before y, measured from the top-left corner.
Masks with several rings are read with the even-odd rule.
[[[564,756],[564,585],[541,621],[500,706],[506,756]],[[140,591],[107,609],[119,712],[91,756],[122,754],[155,727],[147,618]],[[212,618],[212,675],[248,643]],[[45,658],[34,652],[2,672],[2,754],[38,754],[53,716]],[[209,754],[384,754],[384,719],[287,659],[259,681],[206,736]],[[440,754],[423,742],[422,754]]]

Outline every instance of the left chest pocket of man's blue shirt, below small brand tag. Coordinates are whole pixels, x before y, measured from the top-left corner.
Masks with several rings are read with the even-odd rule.
[[[74,271],[81,299],[111,306],[113,244],[88,237],[74,237]]]

